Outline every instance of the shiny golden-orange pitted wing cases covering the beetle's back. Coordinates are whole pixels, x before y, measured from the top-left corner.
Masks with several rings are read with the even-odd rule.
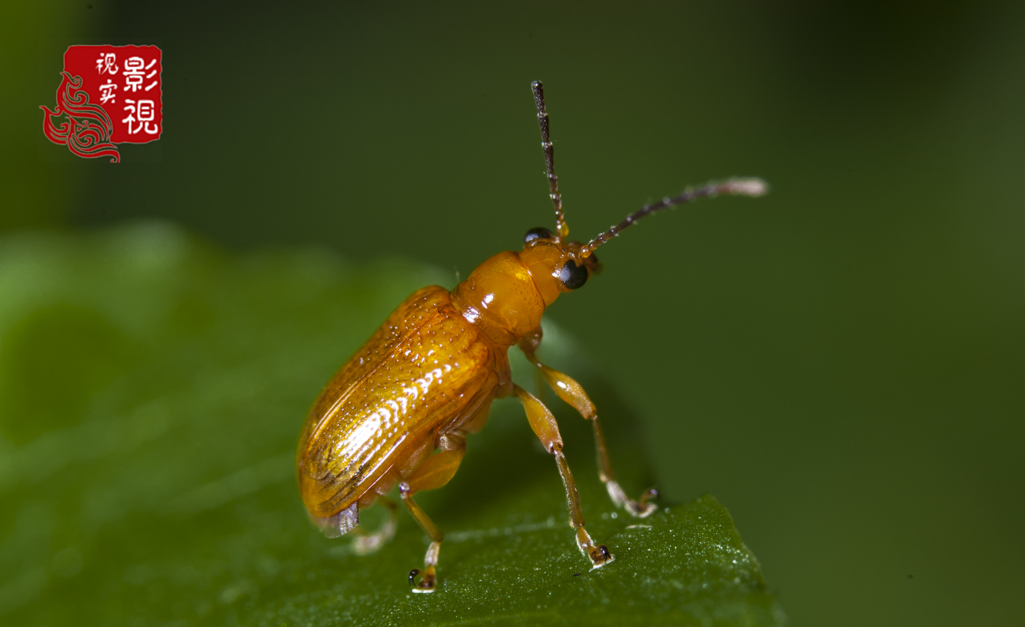
[[[402,461],[403,451],[494,385],[491,343],[447,305],[444,288],[411,295],[314,404],[297,460],[313,515],[348,507]]]

